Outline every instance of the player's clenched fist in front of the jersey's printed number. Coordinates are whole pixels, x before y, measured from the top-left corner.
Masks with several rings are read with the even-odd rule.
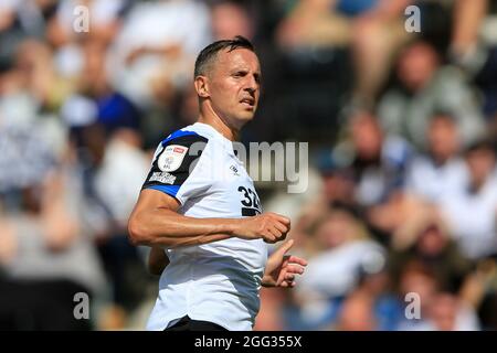
[[[284,240],[290,229],[290,221],[279,214],[268,212],[239,220],[234,235],[242,239],[263,238],[266,243]]]

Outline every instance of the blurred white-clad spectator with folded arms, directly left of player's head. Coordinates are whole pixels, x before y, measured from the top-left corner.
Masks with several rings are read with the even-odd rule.
[[[110,79],[141,108],[167,108],[210,40],[209,9],[200,1],[136,3],[113,45]]]

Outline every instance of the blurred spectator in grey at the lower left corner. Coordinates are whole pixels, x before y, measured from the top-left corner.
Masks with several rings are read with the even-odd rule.
[[[83,221],[81,179],[73,172],[66,165],[38,174],[20,190],[20,208],[0,215],[1,246],[7,242],[7,252],[0,252],[7,276],[0,295],[4,330],[87,330],[96,324],[96,318],[76,320],[73,314],[76,293],[102,298],[105,290]]]

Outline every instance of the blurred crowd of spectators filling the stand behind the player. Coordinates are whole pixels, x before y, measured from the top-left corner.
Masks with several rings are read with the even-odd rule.
[[[198,52],[237,34],[263,71],[242,141],[310,147],[306,193],[256,185],[309,265],[255,329],[497,330],[495,0],[2,0],[0,329],[145,327],[127,218],[197,119]]]

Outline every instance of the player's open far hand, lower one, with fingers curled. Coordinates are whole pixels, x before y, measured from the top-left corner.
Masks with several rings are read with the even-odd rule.
[[[285,255],[293,245],[294,240],[289,239],[271,255],[262,280],[264,287],[295,287],[295,276],[304,274],[307,261],[297,256]]]

